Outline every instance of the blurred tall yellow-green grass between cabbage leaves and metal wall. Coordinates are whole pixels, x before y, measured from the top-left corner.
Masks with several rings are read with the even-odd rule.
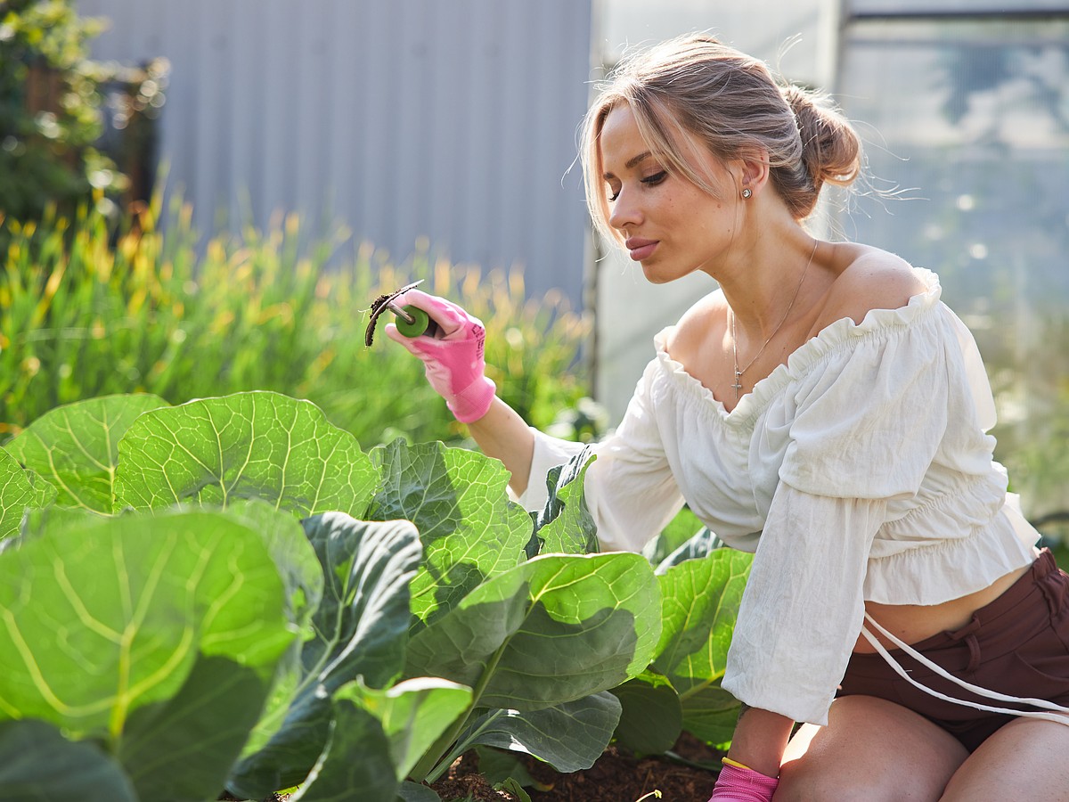
[[[270,389],[315,402],[365,447],[399,435],[461,442],[465,429],[422,363],[385,334],[365,345],[371,302],[416,279],[484,322],[487,374],[531,425],[549,426],[589,392],[588,319],[562,295],[525,298],[518,272],[419,252],[397,265],[371,247],[327,268],[346,232],[300,256],[296,215],[198,246],[189,205],[175,201],[160,231],[160,197],[118,231],[92,206],[3,223],[0,439],[59,404],[111,392],[181,403]]]

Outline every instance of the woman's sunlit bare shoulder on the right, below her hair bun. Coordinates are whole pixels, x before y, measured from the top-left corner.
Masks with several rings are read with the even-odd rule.
[[[826,325],[841,318],[861,323],[873,309],[898,309],[926,290],[901,257],[879,248],[850,246],[832,282],[821,318]]]

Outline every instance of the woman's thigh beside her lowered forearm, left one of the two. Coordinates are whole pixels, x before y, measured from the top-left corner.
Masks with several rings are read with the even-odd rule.
[[[969,753],[912,710],[874,696],[832,704],[791,739],[775,802],[935,802]]]

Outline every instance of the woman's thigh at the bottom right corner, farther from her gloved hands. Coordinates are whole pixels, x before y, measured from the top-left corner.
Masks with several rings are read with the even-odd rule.
[[[961,765],[946,787],[943,802],[1069,802],[1067,755],[1069,726],[1014,719]]]

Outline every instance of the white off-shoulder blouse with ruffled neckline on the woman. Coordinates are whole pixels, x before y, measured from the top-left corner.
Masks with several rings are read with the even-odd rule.
[[[864,601],[938,604],[1029,565],[1038,533],[992,460],[994,402],[935,274],[899,309],[836,321],[726,412],[655,338],[586,499],[604,551],[640,550],[685,502],[754,552],[723,688],[825,724]],[[534,431],[528,490],[579,445]]]

